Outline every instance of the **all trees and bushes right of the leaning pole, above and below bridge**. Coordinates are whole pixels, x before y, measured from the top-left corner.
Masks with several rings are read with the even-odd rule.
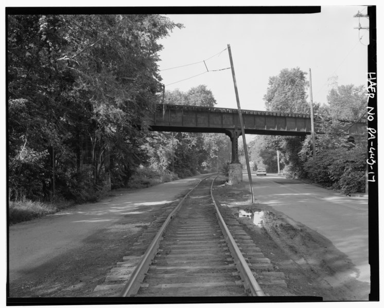
[[[305,72],[299,68],[283,69],[269,80],[265,95],[267,110],[308,113]],[[366,108],[363,86],[342,85],[329,91],[327,104],[314,104],[315,115],[323,120],[326,134],[316,137],[316,156],[311,137],[257,136],[249,144],[255,168],[266,167],[277,172],[276,150],[280,167],[291,178],[308,179],[344,194],[364,192],[366,167],[366,136],[350,139],[342,133],[340,121],[360,119]]]

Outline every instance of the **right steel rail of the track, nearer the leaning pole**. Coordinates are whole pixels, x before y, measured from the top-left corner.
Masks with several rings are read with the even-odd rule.
[[[228,247],[230,248],[231,255],[234,259],[237,271],[239,271],[241,280],[244,283],[244,286],[246,290],[250,293],[252,296],[266,296],[263,290],[261,290],[260,285],[257,283],[255,277],[253,276],[251,269],[249,268],[247,261],[243,257],[243,255],[240,252],[239,247],[237,246],[235,240],[233,239],[230,230],[226,226],[224,219],[222,218],[219,208],[217,207],[217,204],[215,202],[215,199],[213,197],[213,184],[218,176],[215,177],[215,179],[212,181],[211,185],[211,197],[213,204],[216,209],[216,215],[219,220],[219,224],[221,227],[221,231],[224,235],[225,241],[228,244]]]

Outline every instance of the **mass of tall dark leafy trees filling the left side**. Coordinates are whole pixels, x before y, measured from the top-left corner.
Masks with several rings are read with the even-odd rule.
[[[144,115],[161,91],[159,15],[9,15],[11,199],[89,200],[124,186],[146,155]],[[54,173],[55,172],[55,173]]]

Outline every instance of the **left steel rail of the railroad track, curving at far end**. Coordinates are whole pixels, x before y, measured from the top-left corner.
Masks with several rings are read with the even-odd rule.
[[[165,228],[168,226],[170,220],[172,219],[172,216],[179,210],[181,205],[183,204],[184,200],[189,196],[189,194],[200,185],[200,183],[208,178],[212,177],[212,174],[210,176],[207,176],[203,178],[194,188],[188,191],[188,193],[183,197],[183,199],[179,202],[179,204],[171,211],[171,213],[168,215],[167,219],[164,221],[163,225],[161,226],[158,233],[156,233],[154,239],[152,240],[151,244],[147,248],[147,251],[143,255],[143,257],[140,259],[139,263],[135,267],[134,271],[132,272],[131,277],[129,278],[127,284],[124,286],[123,290],[120,292],[120,297],[128,297],[131,295],[134,295],[137,293],[138,289],[140,288],[140,284],[142,283],[145,273],[148,272],[149,266],[152,263],[153,258],[155,257],[160,241],[162,239],[162,235],[164,233]]]

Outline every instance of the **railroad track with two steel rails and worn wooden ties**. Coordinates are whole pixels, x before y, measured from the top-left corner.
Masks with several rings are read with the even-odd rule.
[[[172,210],[119,296],[265,296],[213,199],[214,176]]]

